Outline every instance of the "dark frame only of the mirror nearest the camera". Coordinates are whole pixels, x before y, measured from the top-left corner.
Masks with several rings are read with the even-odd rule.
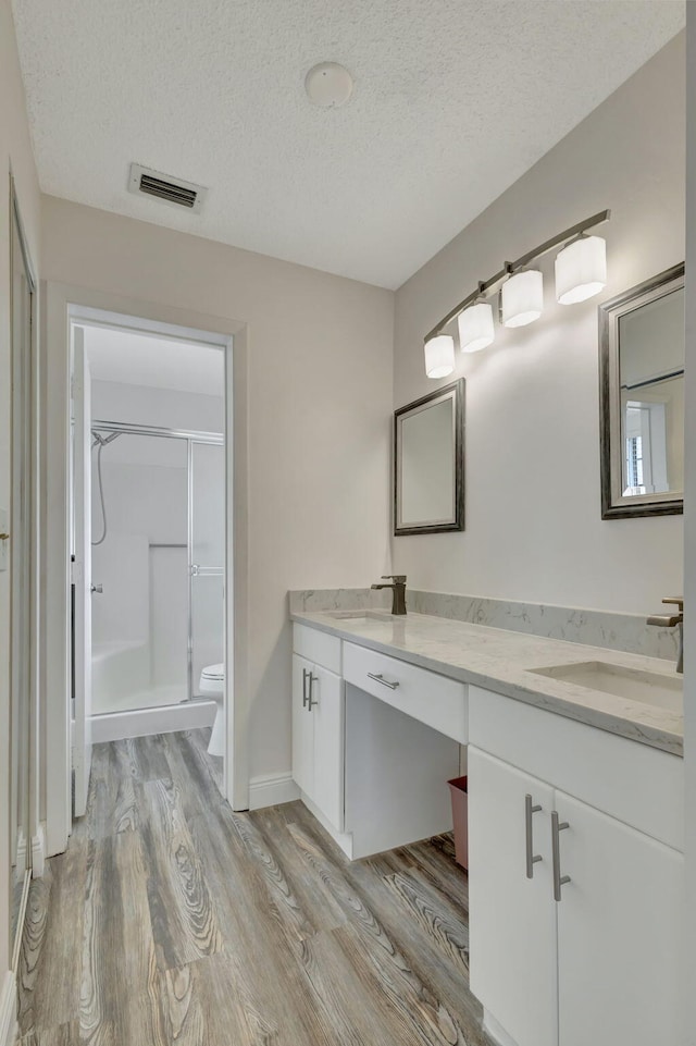
[[[644,283],[604,302],[599,308],[599,443],[601,473],[601,518],[668,516],[684,512],[683,492],[621,493],[623,454],[621,443],[621,394],[619,381],[619,321],[623,316],[657,302],[684,286],[684,263],[672,266]]]

